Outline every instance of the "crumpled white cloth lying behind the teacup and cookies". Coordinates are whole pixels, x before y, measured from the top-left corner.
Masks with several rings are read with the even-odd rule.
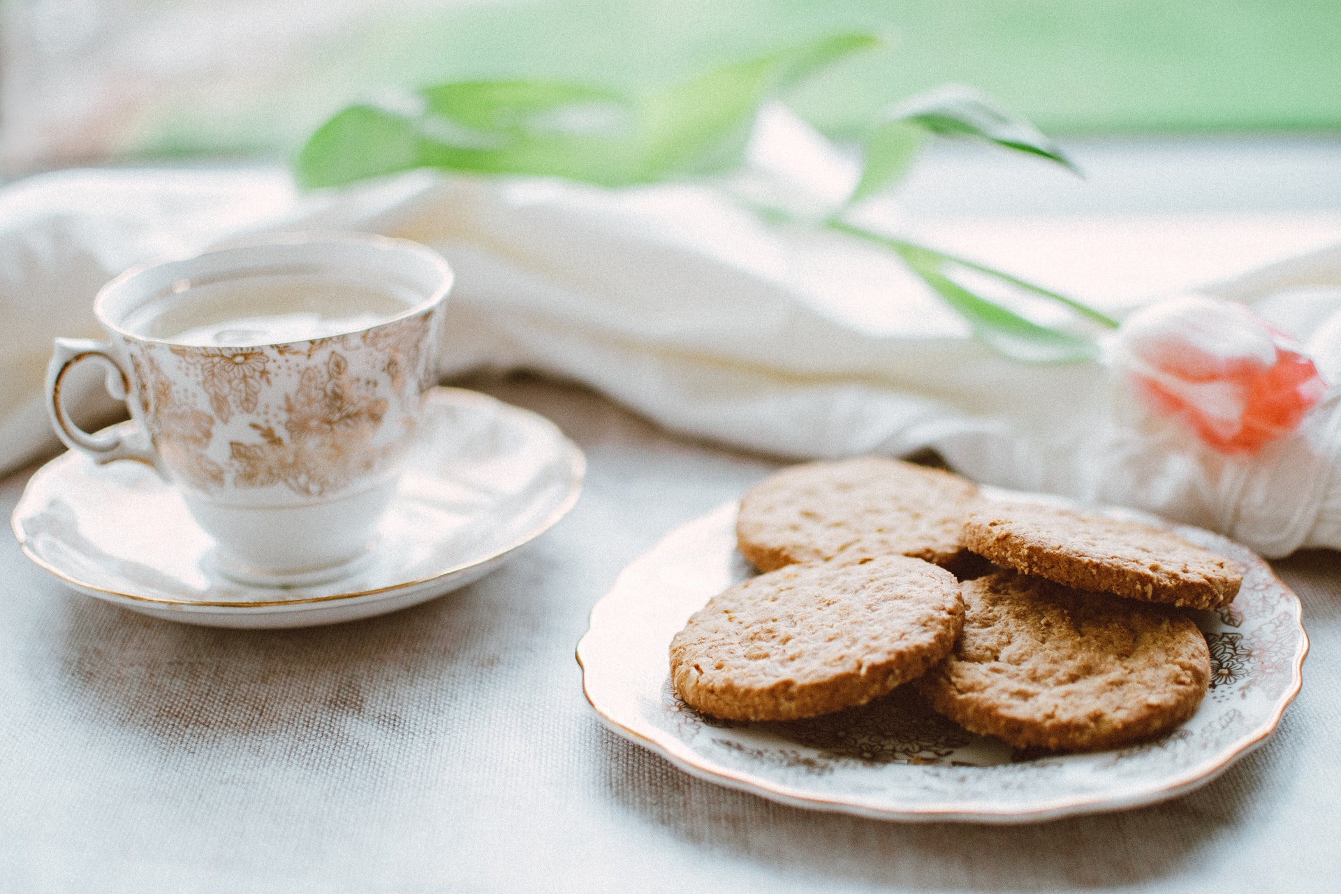
[[[994,354],[889,255],[688,185],[416,173],[298,196],[279,172],[23,181],[0,193],[0,470],[51,449],[50,339],[97,335],[90,302],[107,279],[295,229],[440,249],[459,276],[444,375],[577,379],[672,430],[787,457],[933,448],[978,481],[1159,512],[1267,556],[1341,547],[1341,389],[1255,460],[1226,458],[1136,413],[1097,365]],[[1105,251],[1059,243],[1058,256]],[[1341,247],[1206,291],[1250,302],[1341,382]]]

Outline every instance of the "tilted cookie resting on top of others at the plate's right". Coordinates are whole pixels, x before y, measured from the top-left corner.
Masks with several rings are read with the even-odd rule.
[[[1172,531],[1050,505],[983,501],[964,544],[999,566],[1077,590],[1188,609],[1234,602],[1243,572]]]

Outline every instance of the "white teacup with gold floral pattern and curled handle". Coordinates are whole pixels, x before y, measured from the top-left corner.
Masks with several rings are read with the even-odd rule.
[[[375,543],[436,383],[451,285],[433,251],[363,235],[283,236],[129,271],[94,300],[109,340],[55,342],[52,424],[98,462],[158,469],[228,576],[333,579]],[[111,367],[130,434],[70,421],[62,381],[86,358]]]

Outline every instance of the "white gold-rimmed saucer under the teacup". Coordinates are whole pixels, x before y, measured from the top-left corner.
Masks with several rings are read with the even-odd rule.
[[[56,457],[28,481],[12,525],[42,568],[131,611],[215,627],[306,627],[477,580],[573,508],[585,469],[582,452],[544,417],[437,387],[378,546],[335,580],[263,587],[225,578],[181,496],[141,462]]]

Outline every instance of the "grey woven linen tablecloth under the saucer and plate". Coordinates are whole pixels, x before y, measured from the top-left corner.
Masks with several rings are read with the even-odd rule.
[[[1198,792],[1014,828],[802,811],[607,732],[573,659],[625,563],[776,464],[577,389],[483,387],[574,437],[587,488],[500,571],[417,609],[186,627],[74,594],[0,541],[0,891],[1337,890],[1334,554],[1277,563],[1313,641],[1303,692]],[[0,512],[24,478],[0,484]]]

